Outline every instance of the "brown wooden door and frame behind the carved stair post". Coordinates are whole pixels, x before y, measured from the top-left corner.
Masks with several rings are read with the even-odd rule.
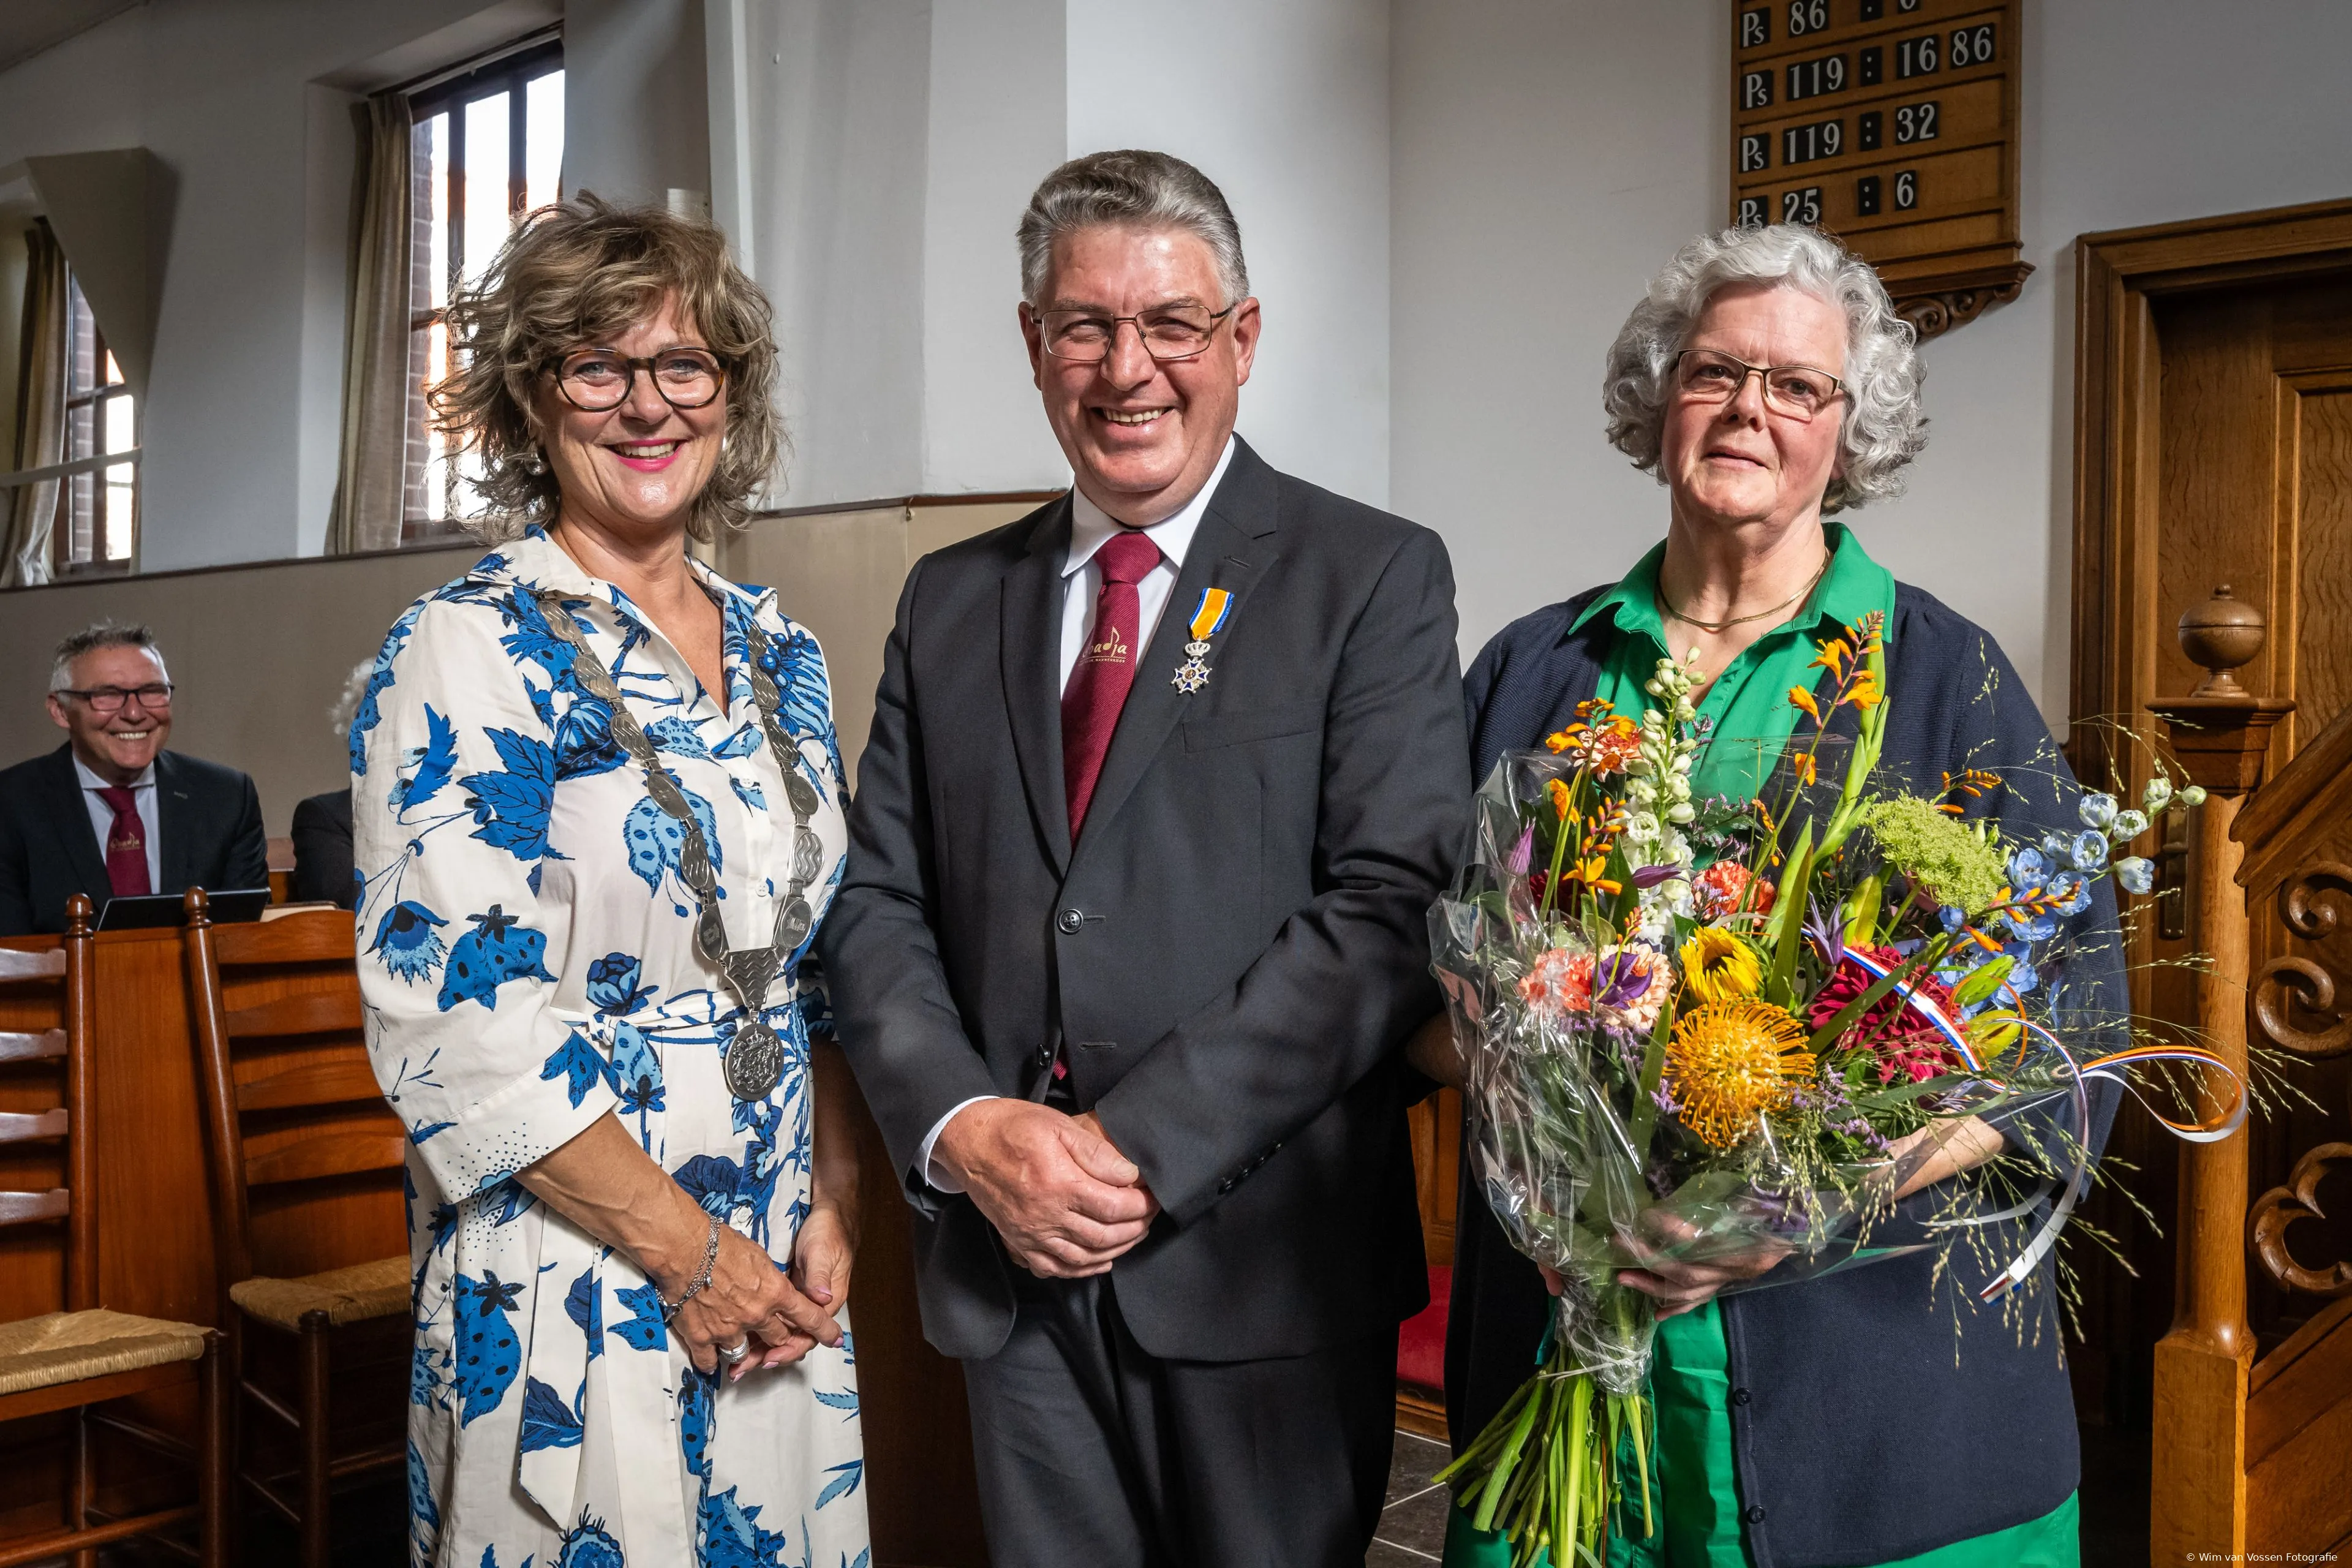
[[[2352,712],[2352,202],[2086,235],[2077,261],[2077,771],[2138,788],[2145,755],[2119,745],[2107,722],[2145,733],[2150,701],[2199,682],[2173,628],[2227,583],[2270,625],[2263,654],[2239,679],[2253,693],[2296,703],[2272,731],[2267,776],[2277,780],[2336,717]],[[2249,804],[2249,818],[2258,811]],[[2253,1194],[2288,1182],[2312,1147],[2352,1140],[2352,1056],[2343,1053],[2352,1039],[2328,1032],[2352,1037],[2352,1025],[2338,1027],[2347,997],[2333,985],[2333,976],[2352,980],[2352,924],[2338,931],[2338,914],[2352,914],[2352,875],[2328,879],[2331,856],[2343,851],[2324,837],[2307,825],[2260,851],[2249,844],[2241,877],[2253,978],[2274,971],[2270,1001],[2251,997],[2249,1039],[2279,1074],[2270,1114],[2246,1133]],[[2190,882],[2185,839],[2173,823],[2159,872],[2173,896],[2152,907],[2143,900],[2129,952],[2136,1006],[2194,1027],[2197,933],[2178,896]],[[2265,1006],[2288,1025],[2284,1032],[2265,1032]],[[2119,1450],[2136,1441],[2143,1462],[2143,1434],[2164,1425],[2150,1406],[2150,1352],[2176,1314],[2178,1150],[2126,1105],[2110,1159],[2131,1173],[2117,1187],[2129,1185],[2154,1211],[2161,1234],[2119,1190],[2091,1206],[2093,1222],[2122,1237],[2131,1272],[2114,1262],[2086,1269],[2091,1345],[2074,1361],[2077,1401],[2089,1427],[2131,1434]],[[2328,1316],[2331,1298],[2303,1286],[2326,1276],[2331,1260],[2352,1258],[2352,1171],[2314,1180],[2317,1206],[2291,1225],[2300,1274],[2258,1260],[2249,1274],[2258,1356],[2288,1342],[2296,1356],[2307,1349],[2310,1335],[2296,1333]],[[2091,1251],[2077,1248],[2077,1258]],[[2340,1349],[2352,1352],[2352,1335]],[[2314,1368],[2352,1392],[2352,1363],[2324,1371],[2307,1361],[2298,1375],[2312,1378]],[[2284,1443],[2291,1434],[2272,1436]],[[2265,1544],[2333,1547],[2333,1535],[2296,1535],[2331,1528],[2324,1512],[2274,1519],[2286,1535]]]

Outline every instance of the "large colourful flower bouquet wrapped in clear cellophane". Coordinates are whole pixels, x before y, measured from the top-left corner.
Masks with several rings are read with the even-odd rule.
[[[2190,1046],[2082,1056],[2082,1020],[2037,973],[2100,877],[2147,891],[2147,860],[2119,851],[2171,799],[2166,778],[2143,809],[2086,795],[2079,827],[2006,842],[1962,806],[2002,780],[1971,771],[1929,797],[1882,776],[1877,616],[1820,642],[1816,668],[1820,696],[1790,691],[1797,738],[1759,757],[1764,788],[1743,802],[1693,797],[1689,668],[1661,661],[1642,715],[1583,703],[1545,750],[1496,764],[1470,863],[1430,912],[1472,1171],[1562,1286],[1534,1378],[1442,1472],[1515,1568],[1541,1552],[1597,1568],[1613,1509],[1628,1535],[1656,1523],[1656,1314],[1621,1269],[1783,1284],[2032,1220],[2049,1199],[1992,1300],[2034,1274],[2089,1182],[2089,1081],[2145,1058],[2218,1067]],[[1839,710],[1851,738],[1832,733]],[[2023,1201],[1978,1190],[2023,1159],[2004,1157],[1945,1182],[1912,1239],[1872,1244],[1962,1121],[2037,1105],[2072,1107],[2072,1133],[2067,1117],[2042,1138],[2009,1121],[2053,1145],[2027,1150],[2042,1178]],[[2173,1126],[2218,1138],[2241,1117],[2239,1091],[2232,1114]]]

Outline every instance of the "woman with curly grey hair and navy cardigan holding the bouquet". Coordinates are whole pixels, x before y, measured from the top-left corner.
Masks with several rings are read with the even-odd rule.
[[[1644,682],[1677,658],[1698,665],[1693,701],[1710,736],[1693,788],[1748,799],[1795,729],[1792,689],[1825,675],[1816,639],[1877,618],[1889,670],[1882,769],[1922,792],[1955,778],[1973,788],[1969,769],[1999,776],[1957,809],[2004,823],[2009,837],[2072,823],[2074,780],[1992,637],[1896,583],[1828,522],[1900,494],[1926,442],[1912,329],[1865,261],[1799,226],[1691,240],[1611,343],[1602,407],[1609,440],[1665,487],[1665,541],[1623,581],[1486,644],[1465,677],[1475,776],[1566,729],[1590,698],[1642,712]],[[1851,729],[1851,708],[1839,724]],[[2112,896],[2077,919],[2096,938],[2112,926]],[[2119,1018],[2112,940],[2077,952],[2067,983],[2086,1009]],[[1442,1018],[1416,1034],[1411,1058],[1461,1081]],[[2112,1098],[2093,1150],[2110,1114]],[[1917,1152],[1898,1145],[1919,1164],[1879,1234],[1917,1225],[1940,1201],[1936,1182],[2004,1147],[2039,1157],[2058,1143],[2025,1117],[1943,1133]],[[1468,1166],[1461,1194],[1446,1410],[1468,1441],[1526,1378],[1550,1319],[1545,1286],[1557,1293],[1559,1281],[1512,1251]],[[1611,1568],[2074,1563],[2079,1460],[2053,1291],[2030,1298],[2042,1319],[1976,1324],[1957,1349],[1957,1324],[1971,1316],[1962,1307],[1999,1267],[1971,1248],[1940,1274],[1936,1253],[1917,1251],[1722,1295],[1771,1284],[1778,1260],[1759,1251],[1621,1274],[1658,1300],[1658,1528],[1644,1535],[1644,1509],[1628,1505],[1611,1521]],[[1621,1474],[1632,1472],[1628,1453]],[[1446,1563],[1505,1561],[1498,1535],[1451,1512]]]

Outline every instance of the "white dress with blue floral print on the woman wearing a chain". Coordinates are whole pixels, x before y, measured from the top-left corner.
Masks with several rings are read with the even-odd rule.
[[[769,990],[783,1079],[739,1103],[741,1018],[694,950],[680,830],[614,743],[534,588],[560,590],[677,778],[720,872],[727,938],[769,940],[793,813],[753,705],[767,630],[783,726],[821,809],[823,914],[842,764],[816,639],[696,567],[724,616],[724,701],[628,597],[536,529],[419,599],[350,726],[360,990],[409,1128],[409,1554],[449,1568],[863,1568],[851,1347],[727,1387],[694,1371],[654,1286],[515,1173],[597,1117],[779,1262],[809,1213],[814,959]]]

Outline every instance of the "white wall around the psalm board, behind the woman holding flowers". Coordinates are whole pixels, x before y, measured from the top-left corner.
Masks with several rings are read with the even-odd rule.
[[[1397,510],[1442,529],[1463,649],[1609,581],[1665,527],[1602,442],[1602,350],[1649,270],[1722,223],[1726,7],[1395,0]],[[1865,545],[2067,696],[2072,244],[2340,197],[2352,7],[2025,9],[2025,294],[1926,346],[1931,440]],[[1482,324],[1468,329],[1470,324]]]

